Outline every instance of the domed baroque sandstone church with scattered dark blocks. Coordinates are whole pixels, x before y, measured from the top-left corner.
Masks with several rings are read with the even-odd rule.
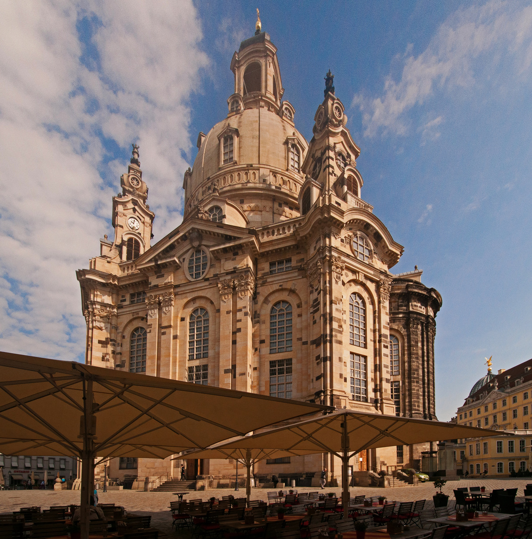
[[[442,298],[422,284],[417,267],[390,271],[403,247],[363,199],[360,149],[333,75],[325,78],[307,142],[283,101],[276,51],[258,20],[230,63],[226,118],[198,135],[183,181],[183,222],[155,245],[155,214],[134,146],[122,192],[113,197],[114,238],[104,236],[100,255],[77,272],[86,362],[436,419]],[[349,472],[419,468],[426,446],[364,452]],[[120,459],[110,477],[176,478],[180,464]],[[187,479],[234,477],[232,461],[185,465]],[[327,453],[258,462],[254,472],[302,478],[319,476],[324,466],[340,481],[340,463]]]

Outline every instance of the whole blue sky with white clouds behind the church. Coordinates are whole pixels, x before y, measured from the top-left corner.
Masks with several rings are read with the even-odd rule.
[[[255,8],[310,139],[334,73],[362,198],[443,296],[436,403],[532,357],[529,2],[11,2],[0,20],[0,349],[82,359],[75,270],[111,235],[141,147],[155,240],[179,225],[199,131],[227,113]]]

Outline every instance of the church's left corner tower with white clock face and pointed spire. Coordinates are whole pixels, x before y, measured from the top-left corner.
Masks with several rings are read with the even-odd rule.
[[[102,240],[102,255],[115,261],[135,260],[150,248],[151,229],[155,213],[146,204],[148,186],[142,179],[137,144],[133,144],[127,174],[122,174],[122,193],[113,197],[113,227],[115,240]],[[106,245],[107,243],[107,245]],[[107,250],[107,253],[104,251]]]

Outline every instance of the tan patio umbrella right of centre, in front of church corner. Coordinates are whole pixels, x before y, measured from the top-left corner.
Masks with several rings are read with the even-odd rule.
[[[346,517],[349,503],[347,465],[349,459],[356,453],[376,447],[411,445],[454,438],[501,436],[501,434],[500,431],[477,429],[456,423],[338,410],[277,429],[235,438],[225,443],[225,449],[244,451],[278,449],[292,451],[294,454],[333,453],[342,460],[342,503]]]

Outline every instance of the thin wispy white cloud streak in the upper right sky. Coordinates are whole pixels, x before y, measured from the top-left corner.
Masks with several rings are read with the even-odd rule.
[[[440,26],[424,52],[414,57],[410,51],[408,47],[399,81],[389,75],[381,96],[353,99],[352,106],[362,112],[366,136],[404,135],[410,109],[437,91],[473,87],[479,72],[489,78],[498,63],[526,77],[532,64],[532,6],[491,0],[460,9]]]

